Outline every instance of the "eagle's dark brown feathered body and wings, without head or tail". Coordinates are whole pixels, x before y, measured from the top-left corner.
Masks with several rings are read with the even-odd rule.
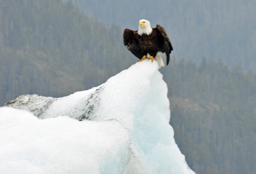
[[[141,36],[138,34],[138,30],[133,31],[126,28],[123,34],[123,41],[127,49],[139,59],[142,59],[148,53],[154,58],[158,52],[165,53],[168,65],[169,54],[173,49],[164,27],[161,25],[156,25],[156,28],[152,28],[151,34],[142,34]]]

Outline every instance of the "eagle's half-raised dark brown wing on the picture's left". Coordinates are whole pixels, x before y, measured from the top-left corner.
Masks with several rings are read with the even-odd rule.
[[[123,41],[124,46],[127,47],[129,51],[131,51],[136,57],[142,59],[144,54],[139,46],[139,41],[135,37],[136,31],[130,30],[128,28],[124,29]]]

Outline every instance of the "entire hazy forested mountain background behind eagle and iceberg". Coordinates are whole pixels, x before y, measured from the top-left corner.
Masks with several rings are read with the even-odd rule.
[[[74,3],[0,0],[1,105],[104,83],[137,62],[122,35],[145,18],[164,26],[174,47],[160,71],[188,165],[196,173],[255,173],[255,1]]]

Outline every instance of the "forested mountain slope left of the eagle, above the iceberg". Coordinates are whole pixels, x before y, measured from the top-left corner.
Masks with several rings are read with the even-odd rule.
[[[0,0],[0,14],[0,104],[88,89],[132,65],[120,27],[85,17],[71,2]]]

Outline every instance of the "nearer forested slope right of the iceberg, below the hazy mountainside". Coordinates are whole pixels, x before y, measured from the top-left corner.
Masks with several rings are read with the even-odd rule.
[[[256,75],[222,62],[172,59],[165,69],[175,140],[196,173],[253,173]]]

